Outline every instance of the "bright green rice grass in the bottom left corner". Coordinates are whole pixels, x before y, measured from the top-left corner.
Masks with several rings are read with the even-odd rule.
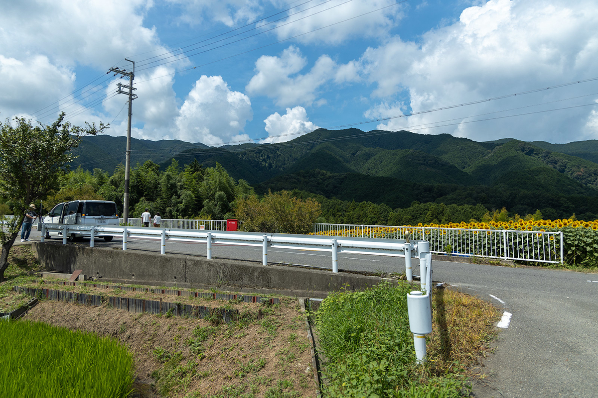
[[[126,397],[133,357],[117,341],[41,322],[0,322],[0,396]]]

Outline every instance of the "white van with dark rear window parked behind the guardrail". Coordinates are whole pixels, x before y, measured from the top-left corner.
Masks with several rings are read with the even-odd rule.
[[[58,203],[44,217],[44,224],[117,226],[118,212],[116,203],[108,200],[72,200],[72,202]],[[62,237],[62,232],[45,232],[46,239],[50,239],[51,236]],[[68,236],[68,239],[72,241],[83,236],[89,236],[89,234],[72,233],[71,236]],[[102,235],[97,236],[102,237]],[[106,242],[112,240],[112,236],[103,236],[103,238]]]

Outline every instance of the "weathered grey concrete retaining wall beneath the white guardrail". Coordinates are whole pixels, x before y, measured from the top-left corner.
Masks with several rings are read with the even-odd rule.
[[[40,263],[65,273],[83,270],[103,282],[137,285],[212,288],[235,292],[325,297],[345,285],[364,289],[382,278],[288,266],[263,266],[250,261],[206,260],[202,257],[151,254],[141,251],[90,248],[53,242],[32,242]]]

